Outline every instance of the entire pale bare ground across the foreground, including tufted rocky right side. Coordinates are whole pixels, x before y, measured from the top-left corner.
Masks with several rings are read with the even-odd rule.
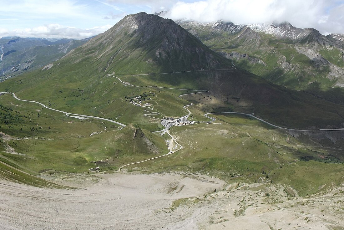
[[[200,174],[96,175],[57,178],[75,189],[0,180],[0,229],[344,228],[343,187],[298,197],[278,184],[225,186]]]

